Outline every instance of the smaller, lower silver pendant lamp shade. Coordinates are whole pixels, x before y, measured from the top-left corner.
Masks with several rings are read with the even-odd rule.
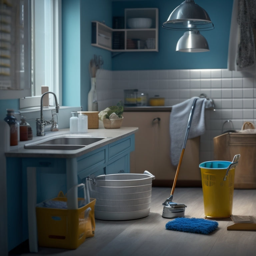
[[[179,52],[207,52],[209,50],[206,39],[197,30],[186,31],[179,39],[176,51]]]

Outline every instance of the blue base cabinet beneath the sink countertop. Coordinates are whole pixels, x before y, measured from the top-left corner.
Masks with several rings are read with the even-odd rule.
[[[91,174],[130,172],[130,152],[134,144],[132,134],[71,159],[7,157],[8,250],[28,239],[27,167],[36,170],[36,201],[39,203],[56,197],[60,190],[67,192],[70,166],[75,166],[78,181]]]

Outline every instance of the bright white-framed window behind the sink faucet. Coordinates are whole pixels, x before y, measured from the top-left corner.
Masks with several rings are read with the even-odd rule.
[[[41,86],[62,105],[61,0],[29,0],[31,7],[31,92],[20,108],[40,105]],[[50,105],[54,105],[49,94]]]

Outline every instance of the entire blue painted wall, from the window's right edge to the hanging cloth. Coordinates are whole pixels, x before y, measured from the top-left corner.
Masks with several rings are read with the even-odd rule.
[[[90,90],[89,61],[101,55],[107,70],[203,69],[227,68],[229,29],[233,0],[195,1],[213,21],[215,29],[203,31],[210,52],[176,52],[183,32],[162,28],[171,11],[182,0],[111,1],[63,0],[63,105],[83,106],[87,110]],[[112,4],[111,4],[112,3]],[[125,52],[111,58],[111,52],[91,46],[91,21],[105,21],[112,27],[112,16],[124,15],[124,8],[156,7],[159,9],[159,52]],[[19,108],[19,100],[0,100],[0,117],[6,108]]]

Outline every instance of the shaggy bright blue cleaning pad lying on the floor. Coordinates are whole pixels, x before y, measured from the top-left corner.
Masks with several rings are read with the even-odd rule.
[[[218,227],[217,221],[197,218],[176,218],[166,223],[165,228],[189,233],[208,235]]]

